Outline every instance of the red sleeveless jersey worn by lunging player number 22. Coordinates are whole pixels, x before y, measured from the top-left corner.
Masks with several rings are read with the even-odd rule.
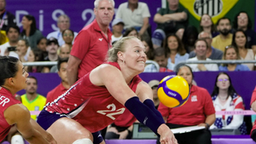
[[[120,70],[117,62],[106,62],[106,64],[116,66]],[[114,122],[124,112],[125,107],[111,96],[105,86],[92,84],[89,76],[90,73],[80,78],[66,93],[54,102],[48,103],[45,110],[73,118],[94,133]],[[135,76],[129,84],[130,89],[135,92],[138,82],[141,81],[138,75]]]

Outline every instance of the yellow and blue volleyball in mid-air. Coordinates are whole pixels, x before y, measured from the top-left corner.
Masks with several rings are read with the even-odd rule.
[[[181,76],[168,75],[159,82],[158,98],[167,107],[174,108],[184,105],[189,95],[190,86]]]

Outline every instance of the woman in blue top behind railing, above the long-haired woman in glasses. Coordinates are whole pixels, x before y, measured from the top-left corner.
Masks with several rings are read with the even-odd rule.
[[[238,60],[240,58],[238,48],[235,46],[226,46],[224,51],[225,60]],[[220,71],[250,71],[248,66],[238,63],[222,64],[218,69]]]

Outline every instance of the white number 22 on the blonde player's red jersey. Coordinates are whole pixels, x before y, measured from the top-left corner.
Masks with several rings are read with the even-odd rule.
[[[107,117],[109,117],[113,120],[115,120],[115,118],[113,117],[114,115],[122,114],[126,110],[126,108],[124,108],[124,107],[122,107],[121,109],[116,110],[116,106],[114,105],[114,103],[106,106],[106,108],[111,109],[111,110],[98,110],[97,113],[106,115]],[[108,112],[110,112],[110,113],[106,114]]]

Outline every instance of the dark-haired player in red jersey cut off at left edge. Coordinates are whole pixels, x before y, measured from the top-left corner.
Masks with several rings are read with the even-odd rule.
[[[14,98],[14,94],[26,88],[28,75],[18,58],[0,56],[0,142],[11,126],[16,125],[22,137],[31,144],[56,143],[49,133],[30,118],[26,106]]]

